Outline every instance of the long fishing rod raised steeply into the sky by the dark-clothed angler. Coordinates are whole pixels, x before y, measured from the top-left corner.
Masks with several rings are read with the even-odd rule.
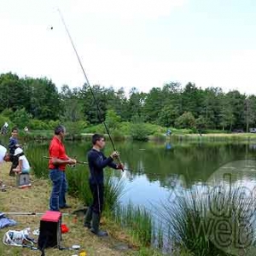
[[[75,52],[75,55],[77,56],[77,59],[78,59],[78,61],[79,61],[79,66],[81,67],[82,72],[84,73],[85,82],[86,82],[86,84],[88,85],[88,87],[89,87],[89,89],[90,89],[90,93],[91,93],[91,95],[92,95],[92,97],[93,97],[93,99],[94,99],[94,102],[96,103],[96,108],[97,108],[97,111],[98,111],[98,117],[99,117],[99,119],[100,119],[100,122],[102,122],[102,124],[104,125],[104,127],[105,127],[105,129],[106,129],[106,131],[107,131],[107,133],[108,133],[108,137],[109,137],[109,140],[110,140],[110,142],[111,142],[111,144],[112,144],[113,151],[117,151],[116,148],[115,148],[115,146],[114,146],[113,139],[112,139],[112,137],[111,137],[111,135],[110,135],[110,131],[108,130],[108,125],[106,124],[106,122],[105,122],[104,119],[102,118],[102,111],[101,111],[101,108],[99,107],[99,104],[98,104],[98,102],[97,102],[97,100],[96,100],[96,96],[95,96],[95,94],[94,94],[94,92],[93,92],[93,90],[92,90],[92,88],[91,88],[91,86],[90,86],[90,82],[89,82],[89,79],[88,79],[88,77],[87,77],[87,75],[86,75],[86,73],[85,73],[84,66],[83,66],[82,61],[81,61],[81,59],[80,59],[80,57],[79,57],[79,53],[78,53],[78,51],[77,51],[77,49],[76,49],[76,47],[75,47],[75,45],[74,45],[74,43],[73,43],[73,38],[71,37],[71,34],[70,34],[70,32],[68,31],[68,28],[67,28],[66,22],[65,22],[65,20],[64,20],[64,17],[63,17],[63,15],[61,14],[61,10],[58,9],[58,12],[59,12],[59,15],[60,15],[60,17],[61,17],[61,21],[62,21],[62,23],[63,23],[63,26],[65,27],[65,30],[66,30],[66,32],[67,32],[67,36],[68,36],[68,38],[69,38],[69,40],[70,40],[70,43],[71,43],[72,46],[73,46],[73,50],[74,50],[74,52]],[[117,155],[117,160],[119,161],[119,164],[122,164],[119,155]],[[123,169],[122,169],[122,171],[124,172]]]

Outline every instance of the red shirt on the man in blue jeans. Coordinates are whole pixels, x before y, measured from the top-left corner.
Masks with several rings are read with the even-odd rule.
[[[58,139],[58,137],[53,137],[49,144],[49,157],[50,158],[58,158],[60,160],[67,160],[67,154],[65,151],[65,147],[63,143]],[[53,165],[52,161],[49,160],[49,169],[55,169],[56,166]],[[58,168],[61,171],[65,171],[66,165],[60,165]]]

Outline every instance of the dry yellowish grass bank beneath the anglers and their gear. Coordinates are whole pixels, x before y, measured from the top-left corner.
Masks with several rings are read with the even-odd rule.
[[[32,189],[16,189],[15,178],[9,177],[9,165],[1,166],[1,179],[11,188],[7,192],[0,192],[1,208],[0,212],[45,212],[48,210],[50,183],[49,180],[32,176]],[[69,204],[75,209],[82,206],[83,203],[78,198],[68,196]],[[68,212],[68,211],[66,211]],[[70,211],[69,211],[70,212]],[[18,222],[14,229],[24,229],[30,227],[32,230],[38,229],[40,217],[13,217]],[[67,224],[70,231],[63,235],[62,246],[70,247],[73,244],[79,244],[87,255],[155,255],[159,256],[161,253],[154,251],[147,247],[138,247],[138,243],[129,236],[125,229],[121,229],[119,224],[113,223],[107,216],[102,218],[102,228],[108,230],[110,236],[107,239],[101,239],[90,234],[89,230],[83,227],[83,218],[63,217],[63,223]],[[2,239],[4,232],[9,229],[0,230],[0,237]],[[36,238],[36,237],[35,237]],[[72,252],[61,251],[61,255],[70,256]],[[0,242],[0,255],[35,255],[34,251],[26,248],[6,247]],[[46,255],[60,255],[60,251],[56,249],[48,249]]]

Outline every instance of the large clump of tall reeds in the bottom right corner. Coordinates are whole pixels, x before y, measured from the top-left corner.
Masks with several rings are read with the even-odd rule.
[[[243,188],[229,189],[220,185],[211,193],[190,190],[178,196],[176,201],[169,201],[163,205],[161,214],[168,224],[166,233],[170,236],[167,244],[177,252],[185,250],[189,255],[196,256],[249,255],[251,247],[238,249],[234,237],[237,230],[241,237],[252,236],[252,241],[256,237],[255,203],[253,197],[246,196],[245,192]],[[248,210],[250,214],[247,214]],[[219,230],[218,224],[225,224],[225,230]],[[231,241],[228,246],[219,242],[227,239],[227,234],[230,234]]]

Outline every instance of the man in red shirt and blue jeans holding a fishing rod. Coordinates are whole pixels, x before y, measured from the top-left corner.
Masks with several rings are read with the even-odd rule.
[[[49,144],[49,178],[53,188],[49,199],[49,209],[60,211],[60,208],[69,208],[66,203],[67,178],[65,168],[67,165],[75,165],[76,160],[67,156],[62,143],[66,129],[63,125],[55,128],[55,137]]]

